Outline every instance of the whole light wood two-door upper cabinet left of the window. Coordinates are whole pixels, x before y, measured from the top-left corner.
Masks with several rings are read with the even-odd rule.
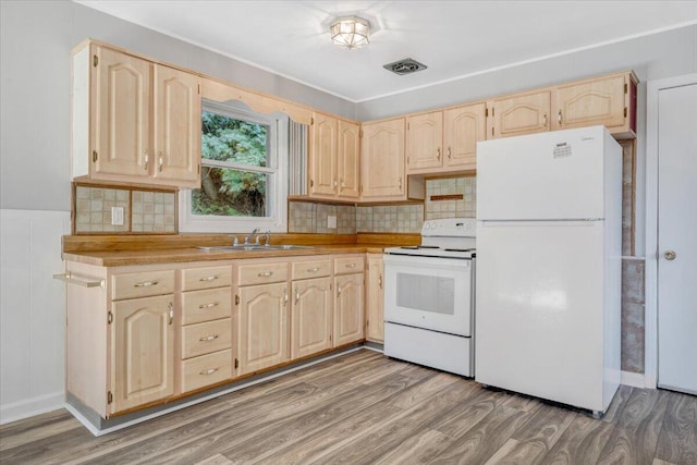
[[[199,84],[85,44],[73,56],[73,179],[199,187]]]

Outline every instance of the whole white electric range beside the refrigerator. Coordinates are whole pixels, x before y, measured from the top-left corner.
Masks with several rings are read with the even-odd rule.
[[[426,221],[384,253],[384,354],[474,377],[476,220]]]

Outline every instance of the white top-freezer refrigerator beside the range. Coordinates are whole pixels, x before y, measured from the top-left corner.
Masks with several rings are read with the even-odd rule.
[[[475,379],[604,413],[621,254],[622,149],[604,126],[479,143]]]

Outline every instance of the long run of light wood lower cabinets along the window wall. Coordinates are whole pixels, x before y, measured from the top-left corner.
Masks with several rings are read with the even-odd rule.
[[[102,418],[365,336],[365,254],[65,271],[69,402]]]

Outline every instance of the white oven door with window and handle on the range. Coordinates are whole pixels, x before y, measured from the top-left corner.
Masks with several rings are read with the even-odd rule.
[[[384,320],[472,335],[473,262],[467,259],[384,256]]]

